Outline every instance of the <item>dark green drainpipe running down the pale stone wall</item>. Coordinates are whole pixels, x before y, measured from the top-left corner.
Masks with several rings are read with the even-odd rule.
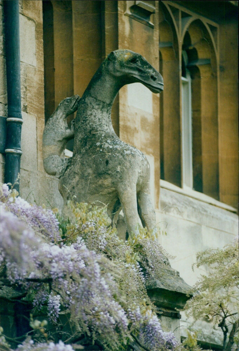
[[[19,1],[4,1],[5,49],[7,74],[7,131],[5,182],[14,184],[20,173],[21,159],[21,82]],[[19,180],[18,180],[19,183]],[[19,192],[19,184],[14,188]]]

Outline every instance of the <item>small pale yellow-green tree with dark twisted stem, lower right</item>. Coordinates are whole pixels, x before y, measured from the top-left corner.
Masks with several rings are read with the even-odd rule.
[[[238,238],[223,249],[208,249],[198,252],[197,268],[207,265],[208,274],[201,274],[194,285],[193,298],[185,306],[186,315],[194,320],[206,318],[218,325],[224,335],[224,350],[231,350],[233,339],[238,332],[239,307],[239,270],[238,270]],[[232,327],[226,345],[228,332]]]

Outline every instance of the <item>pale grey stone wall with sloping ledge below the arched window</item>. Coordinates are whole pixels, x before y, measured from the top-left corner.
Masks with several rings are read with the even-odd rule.
[[[222,248],[238,235],[238,215],[235,209],[196,191],[183,191],[181,188],[161,180],[160,208],[156,210],[157,223],[167,235],[160,236],[163,248],[175,256],[171,266],[180,272],[189,285],[196,283],[207,267],[194,268],[196,253],[209,248]],[[187,320],[181,312],[180,332],[187,336]],[[216,347],[222,345],[220,329],[214,330],[212,324],[199,320],[194,326],[198,330],[198,340]]]

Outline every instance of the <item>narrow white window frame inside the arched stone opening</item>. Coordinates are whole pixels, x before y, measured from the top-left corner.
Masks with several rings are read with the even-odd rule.
[[[182,80],[182,187],[193,189],[192,90],[188,69]]]

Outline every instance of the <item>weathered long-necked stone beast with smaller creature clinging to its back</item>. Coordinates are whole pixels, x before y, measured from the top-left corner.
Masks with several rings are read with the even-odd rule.
[[[111,52],[82,98],[69,98],[69,104],[67,99],[62,101],[47,122],[43,137],[43,150],[48,150],[43,155],[45,170],[60,178],[63,216],[70,214],[67,201],[73,195],[78,202],[106,204],[113,227],[122,208],[129,235],[137,231],[138,225],[148,230],[156,226],[150,199],[149,163],[141,151],[117,137],[111,122],[111,108],[118,91],[134,82],[141,82],[153,93],[163,90],[162,76],[140,54],[130,50]],[[64,164],[59,157],[60,140],[63,143],[69,135],[72,137],[73,130],[67,127],[63,114],[66,119],[77,103],[73,156]],[[56,156],[53,156],[54,140],[58,143]]]

